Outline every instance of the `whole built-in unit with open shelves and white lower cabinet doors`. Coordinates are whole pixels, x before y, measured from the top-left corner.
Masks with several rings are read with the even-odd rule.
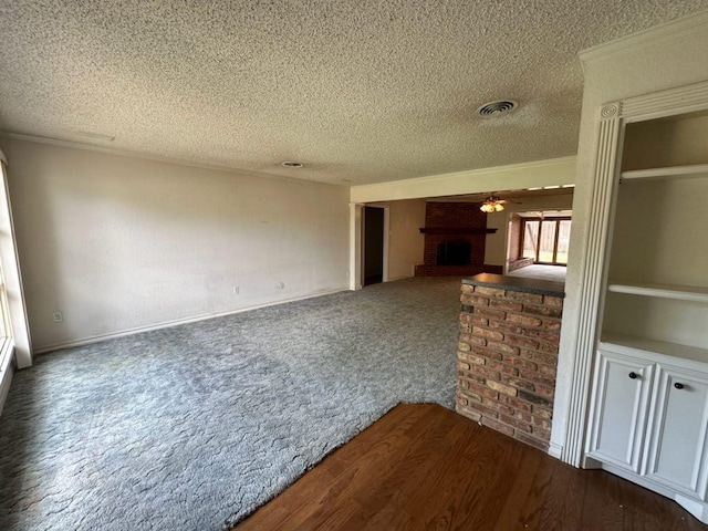
[[[708,90],[684,113],[618,108],[585,465],[708,522]]]

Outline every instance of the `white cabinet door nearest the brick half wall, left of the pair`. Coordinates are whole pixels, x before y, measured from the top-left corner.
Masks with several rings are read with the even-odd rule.
[[[589,455],[639,471],[654,364],[600,351],[595,366]]]

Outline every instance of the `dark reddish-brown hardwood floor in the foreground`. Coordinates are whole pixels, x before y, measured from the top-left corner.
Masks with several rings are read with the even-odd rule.
[[[677,503],[579,470],[435,405],[399,405],[233,528],[708,530]]]

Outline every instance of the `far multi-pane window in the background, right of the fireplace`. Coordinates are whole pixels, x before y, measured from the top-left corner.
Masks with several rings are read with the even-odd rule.
[[[523,218],[523,258],[550,266],[568,264],[571,218]]]

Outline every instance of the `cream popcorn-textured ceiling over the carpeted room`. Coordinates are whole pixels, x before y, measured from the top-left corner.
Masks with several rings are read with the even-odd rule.
[[[0,129],[353,185],[561,157],[576,53],[705,8],[0,0]],[[508,97],[512,114],[475,115]]]

